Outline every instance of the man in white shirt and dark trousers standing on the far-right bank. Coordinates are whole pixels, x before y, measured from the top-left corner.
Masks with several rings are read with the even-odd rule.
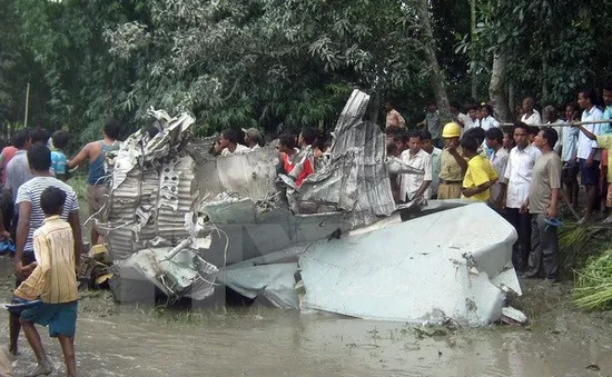
[[[603,112],[594,105],[596,99],[593,89],[584,89],[578,95],[578,105],[582,111],[581,121],[596,121],[603,119]],[[601,135],[601,125],[584,125],[584,129],[598,136]],[[593,215],[598,202],[598,183],[600,180],[600,159],[601,151],[598,149],[598,142],[589,139],[584,132],[578,136],[578,160],[580,163],[580,176],[582,185],[586,189],[586,211],[579,224],[584,224]]]

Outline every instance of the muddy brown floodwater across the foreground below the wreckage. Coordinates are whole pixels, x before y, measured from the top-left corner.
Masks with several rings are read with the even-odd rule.
[[[0,258],[0,265],[9,261]],[[12,279],[6,268],[0,271],[0,297],[6,300]],[[533,287],[525,289],[523,309],[531,314],[530,326],[436,337],[418,336],[404,324],[263,307],[168,315],[118,307],[101,294],[80,302],[79,376],[611,375],[610,316],[573,311],[563,287],[529,284]],[[0,312],[0,323],[7,321],[7,312]],[[53,376],[60,376],[60,348],[45,329],[41,335],[56,366]],[[0,326],[0,339],[6,347],[6,325]],[[17,376],[34,360],[23,337],[20,348],[13,361]]]

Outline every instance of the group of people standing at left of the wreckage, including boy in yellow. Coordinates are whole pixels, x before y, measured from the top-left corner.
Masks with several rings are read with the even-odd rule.
[[[0,153],[2,245],[14,248],[16,289],[9,309],[9,353],[18,354],[21,328],[38,360],[28,376],[52,371],[34,324],[48,326],[63,351],[67,375],[76,376],[75,331],[78,307],[77,268],[82,251],[79,201],[66,183],[71,169],[89,162],[90,215],[107,195],[105,156],[118,147],[121,125],[109,121],[103,138],[86,145],[72,159],[62,151],[65,131],[42,128],[14,132]],[[91,244],[103,242],[93,228]]]

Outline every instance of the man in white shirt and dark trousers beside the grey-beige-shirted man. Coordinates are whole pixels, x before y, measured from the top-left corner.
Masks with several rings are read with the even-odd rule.
[[[531,216],[521,212],[521,205],[529,196],[531,176],[535,160],[542,155],[540,149],[529,142],[529,126],[514,125],[514,141],[516,147],[510,151],[504,178],[507,179],[505,208],[510,224],[519,234],[513,246],[512,262],[514,268],[524,271],[527,267],[531,250]]]

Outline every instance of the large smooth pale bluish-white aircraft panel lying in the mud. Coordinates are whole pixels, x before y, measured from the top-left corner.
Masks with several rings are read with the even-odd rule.
[[[481,327],[501,318],[506,291],[522,294],[511,260],[516,231],[485,204],[383,222],[305,248],[303,308]]]

